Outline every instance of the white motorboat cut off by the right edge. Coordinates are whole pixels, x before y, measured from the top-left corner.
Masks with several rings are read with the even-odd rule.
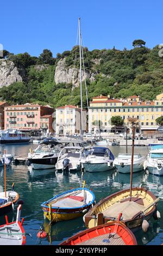
[[[149,173],[154,175],[163,175],[163,145],[151,147],[144,169],[148,169]]]

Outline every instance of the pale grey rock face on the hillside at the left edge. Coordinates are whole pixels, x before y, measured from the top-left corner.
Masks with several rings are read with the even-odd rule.
[[[22,82],[22,77],[18,74],[14,62],[0,59],[0,87],[9,86],[14,82]]]

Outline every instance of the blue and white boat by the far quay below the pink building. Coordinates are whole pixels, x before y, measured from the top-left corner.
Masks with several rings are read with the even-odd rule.
[[[24,132],[12,129],[0,131],[0,144],[29,143],[29,141],[30,137]]]

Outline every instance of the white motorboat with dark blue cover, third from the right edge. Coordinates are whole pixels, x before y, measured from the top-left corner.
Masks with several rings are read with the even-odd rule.
[[[112,163],[114,155],[110,149],[93,147],[89,153],[82,157],[81,163],[86,172],[105,172],[114,168]]]

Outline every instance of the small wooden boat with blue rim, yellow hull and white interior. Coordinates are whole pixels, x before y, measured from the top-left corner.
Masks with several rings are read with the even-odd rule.
[[[87,188],[76,188],[41,204],[50,222],[67,221],[84,215],[95,204],[95,195]]]

